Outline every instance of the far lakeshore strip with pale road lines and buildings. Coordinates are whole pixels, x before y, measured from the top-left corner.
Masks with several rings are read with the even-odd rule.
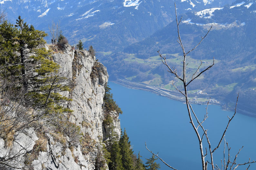
[[[161,88],[161,87],[146,85],[146,84],[142,84],[142,83],[136,83],[136,82],[132,82],[132,81],[129,81],[129,80],[126,80],[126,79],[118,79],[116,81],[111,81],[111,82],[122,85],[122,86],[127,87],[127,88],[137,89],[137,90],[144,90],[144,91],[148,91],[148,92],[151,92],[151,93],[155,93],[155,94],[163,96],[163,97],[167,97],[167,98],[172,99],[172,100],[185,102],[185,98],[178,91],[172,91],[172,90],[167,90],[167,89],[164,89],[164,88]],[[190,95],[192,95],[192,97],[195,97],[198,94],[197,95],[190,94]],[[202,97],[202,95],[201,95],[199,97],[199,99],[206,99],[206,97]],[[190,100],[190,102],[191,102],[191,104],[198,104],[198,105],[204,105],[204,104],[208,103],[208,101],[203,102],[203,101],[197,101],[197,100]],[[225,103],[222,102],[222,101],[216,100],[216,99],[209,99],[209,104],[223,106]],[[222,108],[222,110],[233,111],[234,108],[227,107],[225,109]],[[240,110],[238,108],[237,108],[237,112],[239,112],[243,115],[250,116],[250,117],[256,117],[256,114],[253,114],[252,112]]]

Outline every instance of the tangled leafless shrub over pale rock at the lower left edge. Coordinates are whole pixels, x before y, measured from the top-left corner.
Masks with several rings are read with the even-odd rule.
[[[0,169],[29,169],[30,165],[25,162],[32,160],[25,155],[30,153],[34,141],[29,137],[24,138],[22,134],[27,134],[27,130],[33,128],[33,122],[39,120],[43,112],[29,107],[24,90],[15,90],[12,84],[6,82],[5,86],[7,88],[0,95]]]

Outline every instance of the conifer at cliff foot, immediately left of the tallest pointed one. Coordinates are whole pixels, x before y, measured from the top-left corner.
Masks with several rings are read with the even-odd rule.
[[[126,170],[123,168],[122,164],[122,155],[121,155],[121,149],[119,147],[119,144],[117,141],[114,141],[112,147],[111,147],[111,162],[109,163],[109,170]]]

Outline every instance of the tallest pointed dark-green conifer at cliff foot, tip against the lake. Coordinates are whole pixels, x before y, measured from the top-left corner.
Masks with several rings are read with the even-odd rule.
[[[120,140],[119,140],[119,145],[120,145],[120,153],[122,155],[122,164],[123,168],[125,170],[132,170],[133,169],[133,150],[131,149],[131,142],[129,141],[129,137],[124,130]]]

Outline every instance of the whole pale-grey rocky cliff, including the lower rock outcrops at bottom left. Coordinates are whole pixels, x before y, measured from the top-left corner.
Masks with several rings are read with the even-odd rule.
[[[76,50],[70,45],[50,45],[46,48],[53,50],[52,59],[60,65],[60,72],[66,73],[68,80],[74,84],[70,92],[64,94],[72,99],[65,105],[73,110],[66,115],[66,121],[78,125],[83,138],[79,145],[69,148],[63,147],[54,134],[46,133],[47,141],[41,143],[45,149],[36,154],[32,165],[36,170],[94,170],[98,150],[110,133],[109,127],[103,124],[102,108],[104,87],[108,81],[106,67],[87,50]],[[112,112],[111,115],[114,118],[114,131],[120,137],[118,114]],[[17,132],[14,136],[15,142],[11,148],[7,148],[0,138],[0,158],[10,151],[20,152],[20,148],[25,148],[28,143],[26,150],[33,152],[40,138],[33,128]],[[63,138],[69,140],[67,136]]]

